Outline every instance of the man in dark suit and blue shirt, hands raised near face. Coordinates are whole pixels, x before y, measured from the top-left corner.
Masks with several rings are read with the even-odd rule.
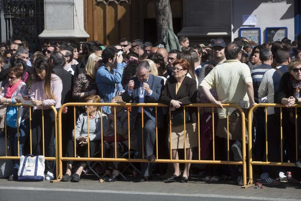
[[[151,74],[147,61],[139,62],[136,68],[137,77],[130,79],[128,89],[122,95],[124,102],[132,103],[157,103],[163,90],[164,81],[160,77]],[[143,140],[144,156],[148,161],[155,161],[154,146],[156,140],[156,114],[155,107],[132,107],[131,126],[135,125],[135,133],[138,139],[139,155],[142,156],[142,112],[143,112]],[[162,124],[162,108],[157,108],[157,127]],[[149,163],[141,164],[141,181],[151,180],[151,168]]]

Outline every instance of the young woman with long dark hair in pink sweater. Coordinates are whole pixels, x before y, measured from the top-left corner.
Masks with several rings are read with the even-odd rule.
[[[36,60],[36,74],[31,85],[30,94],[35,110],[32,120],[32,146],[34,155],[55,157],[54,150],[54,111],[61,107],[62,80],[53,73],[47,61]],[[42,143],[42,110],[44,114],[44,143]],[[43,147],[43,144],[45,147]],[[46,180],[54,180],[54,161],[45,161]]]

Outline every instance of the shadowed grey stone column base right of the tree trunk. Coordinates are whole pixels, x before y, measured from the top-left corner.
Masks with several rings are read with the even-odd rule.
[[[231,40],[230,0],[183,0],[183,29],[178,36],[188,36],[189,42],[203,42],[223,37]]]

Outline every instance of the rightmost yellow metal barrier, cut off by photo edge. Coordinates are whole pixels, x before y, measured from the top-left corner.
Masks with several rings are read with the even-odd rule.
[[[282,140],[283,140],[283,129],[282,129],[282,108],[287,108],[285,105],[281,105],[281,104],[263,104],[263,103],[260,103],[260,104],[257,104],[255,105],[253,108],[250,109],[250,112],[249,112],[249,116],[248,116],[248,132],[249,133],[252,133],[252,113],[254,110],[256,110],[257,108],[259,107],[265,107],[265,162],[262,162],[262,161],[253,161],[252,159],[252,136],[251,134],[249,135],[249,178],[250,178],[250,181],[249,183],[250,184],[253,184],[253,167],[252,165],[273,165],[273,166],[290,166],[290,167],[294,167],[294,163],[292,162],[283,162],[283,143],[282,143]],[[280,108],[280,140],[281,140],[281,162],[271,162],[271,161],[268,161],[268,127],[267,127],[267,108],[268,107],[278,107]],[[296,134],[296,160],[298,159],[298,140],[297,140],[297,108],[301,108],[301,105],[299,104],[296,104],[294,105],[293,107],[291,108],[294,108],[295,110],[295,134]],[[290,140],[294,140],[294,139],[290,139]]]

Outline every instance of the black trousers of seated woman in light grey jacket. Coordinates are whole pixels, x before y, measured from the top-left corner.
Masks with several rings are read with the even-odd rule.
[[[90,158],[92,158],[98,148],[99,142],[90,141]],[[79,157],[88,157],[88,145],[79,146],[79,143],[76,141],[76,155]],[[66,157],[74,157],[74,139],[69,140],[66,147]],[[73,164],[73,161],[68,161],[68,163]],[[87,165],[90,165],[91,161],[86,161]]]

